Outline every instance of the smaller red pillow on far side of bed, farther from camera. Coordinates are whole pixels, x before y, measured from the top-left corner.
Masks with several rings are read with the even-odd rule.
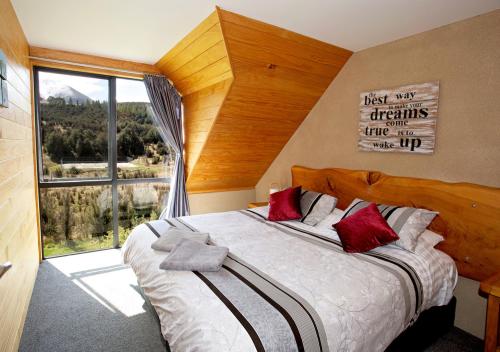
[[[284,221],[296,220],[302,217],[300,210],[300,193],[302,187],[287,188],[275,192],[269,197],[269,215],[267,220]]]

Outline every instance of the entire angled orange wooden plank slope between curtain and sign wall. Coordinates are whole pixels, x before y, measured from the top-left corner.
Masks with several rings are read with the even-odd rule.
[[[352,52],[217,9],[156,66],[183,95],[187,187],[254,187]]]

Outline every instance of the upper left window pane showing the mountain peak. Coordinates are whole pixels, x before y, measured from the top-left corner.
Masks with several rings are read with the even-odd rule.
[[[109,80],[45,71],[38,78],[43,180],[109,177]]]

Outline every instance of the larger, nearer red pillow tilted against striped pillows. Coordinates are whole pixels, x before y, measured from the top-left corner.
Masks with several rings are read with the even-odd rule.
[[[348,253],[367,252],[399,239],[375,203],[340,220],[333,227]]]

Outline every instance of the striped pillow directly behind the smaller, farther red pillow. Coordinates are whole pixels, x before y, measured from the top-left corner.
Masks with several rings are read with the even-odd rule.
[[[301,222],[314,226],[335,209],[337,198],[328,194],[304,191],[300,196]]]

